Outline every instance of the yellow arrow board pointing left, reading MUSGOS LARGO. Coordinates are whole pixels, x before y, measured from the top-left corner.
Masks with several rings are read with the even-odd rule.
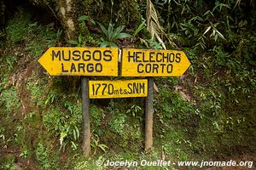
[[[118,48],[49,48],[38,62],[52,76],[118,76]]]

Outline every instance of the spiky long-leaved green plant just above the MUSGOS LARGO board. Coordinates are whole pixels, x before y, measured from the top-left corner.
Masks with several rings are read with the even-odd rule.
[[[101,38],[102,42],[100,43],[100,46],[103,47],[117,47],[116,41],[118,39],[122,38],[128,38],[132,37],[130,34],[122,32],[125,28],[125,26],[119,26],[117,28],[114,28],[114,25],[112,23],[108,24],[108,30],[105,26],[103,26],[101,23],[98,23],[98,25],[101,27],[102,32],[105,35],[105,38]]]

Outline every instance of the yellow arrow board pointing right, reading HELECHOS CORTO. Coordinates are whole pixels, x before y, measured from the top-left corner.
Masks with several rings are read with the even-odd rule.
[[[183,51],[123,48],[121,76],[179,77],[189,65]]]

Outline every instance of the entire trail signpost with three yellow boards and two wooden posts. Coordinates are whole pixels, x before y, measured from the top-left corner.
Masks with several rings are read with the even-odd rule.
[[[82,76],[84,156],[90,154],[90,99],[147,97],[145,150],[153,145],[153,77],[178,77],[189,68],[183,51],[122,49],[121,76],[137,80],[89,81],[89,76],[118,76],[118,48],[49,48],[38,59],[52,76]]]

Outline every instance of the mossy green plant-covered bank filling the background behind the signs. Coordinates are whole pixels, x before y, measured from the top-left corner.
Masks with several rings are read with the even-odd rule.
[[[78,1],[77,37],[68,37],[54,13],[59,1],[19,2],[0,3],[0,169],[100,169],[98,159],[226,161],[244,155],[255,163],[253,1],[152,0],[166,47],[183,50],[192,65],[183,77],[154,79],[159,92],[148,152],[143,99],[92,99],[88,160],[80,147],[79,77],[49,77],[38,58],[54,46],[162,48],[145,28],[146,3]],[[109,38],[102,26],[127,34]]]

